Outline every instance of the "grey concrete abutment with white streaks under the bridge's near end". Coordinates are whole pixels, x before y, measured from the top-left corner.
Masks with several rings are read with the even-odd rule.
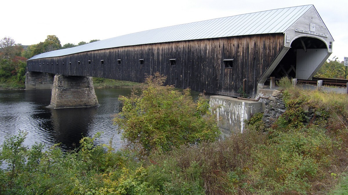
[[[243,133],[245,121],[262,109],[261,102],[238,100],[223,95],[210,96],[209,104],[212,108],[219,107],[214,114],[219,119],[218,126],[222,132],[222,139],[234,133]]]

